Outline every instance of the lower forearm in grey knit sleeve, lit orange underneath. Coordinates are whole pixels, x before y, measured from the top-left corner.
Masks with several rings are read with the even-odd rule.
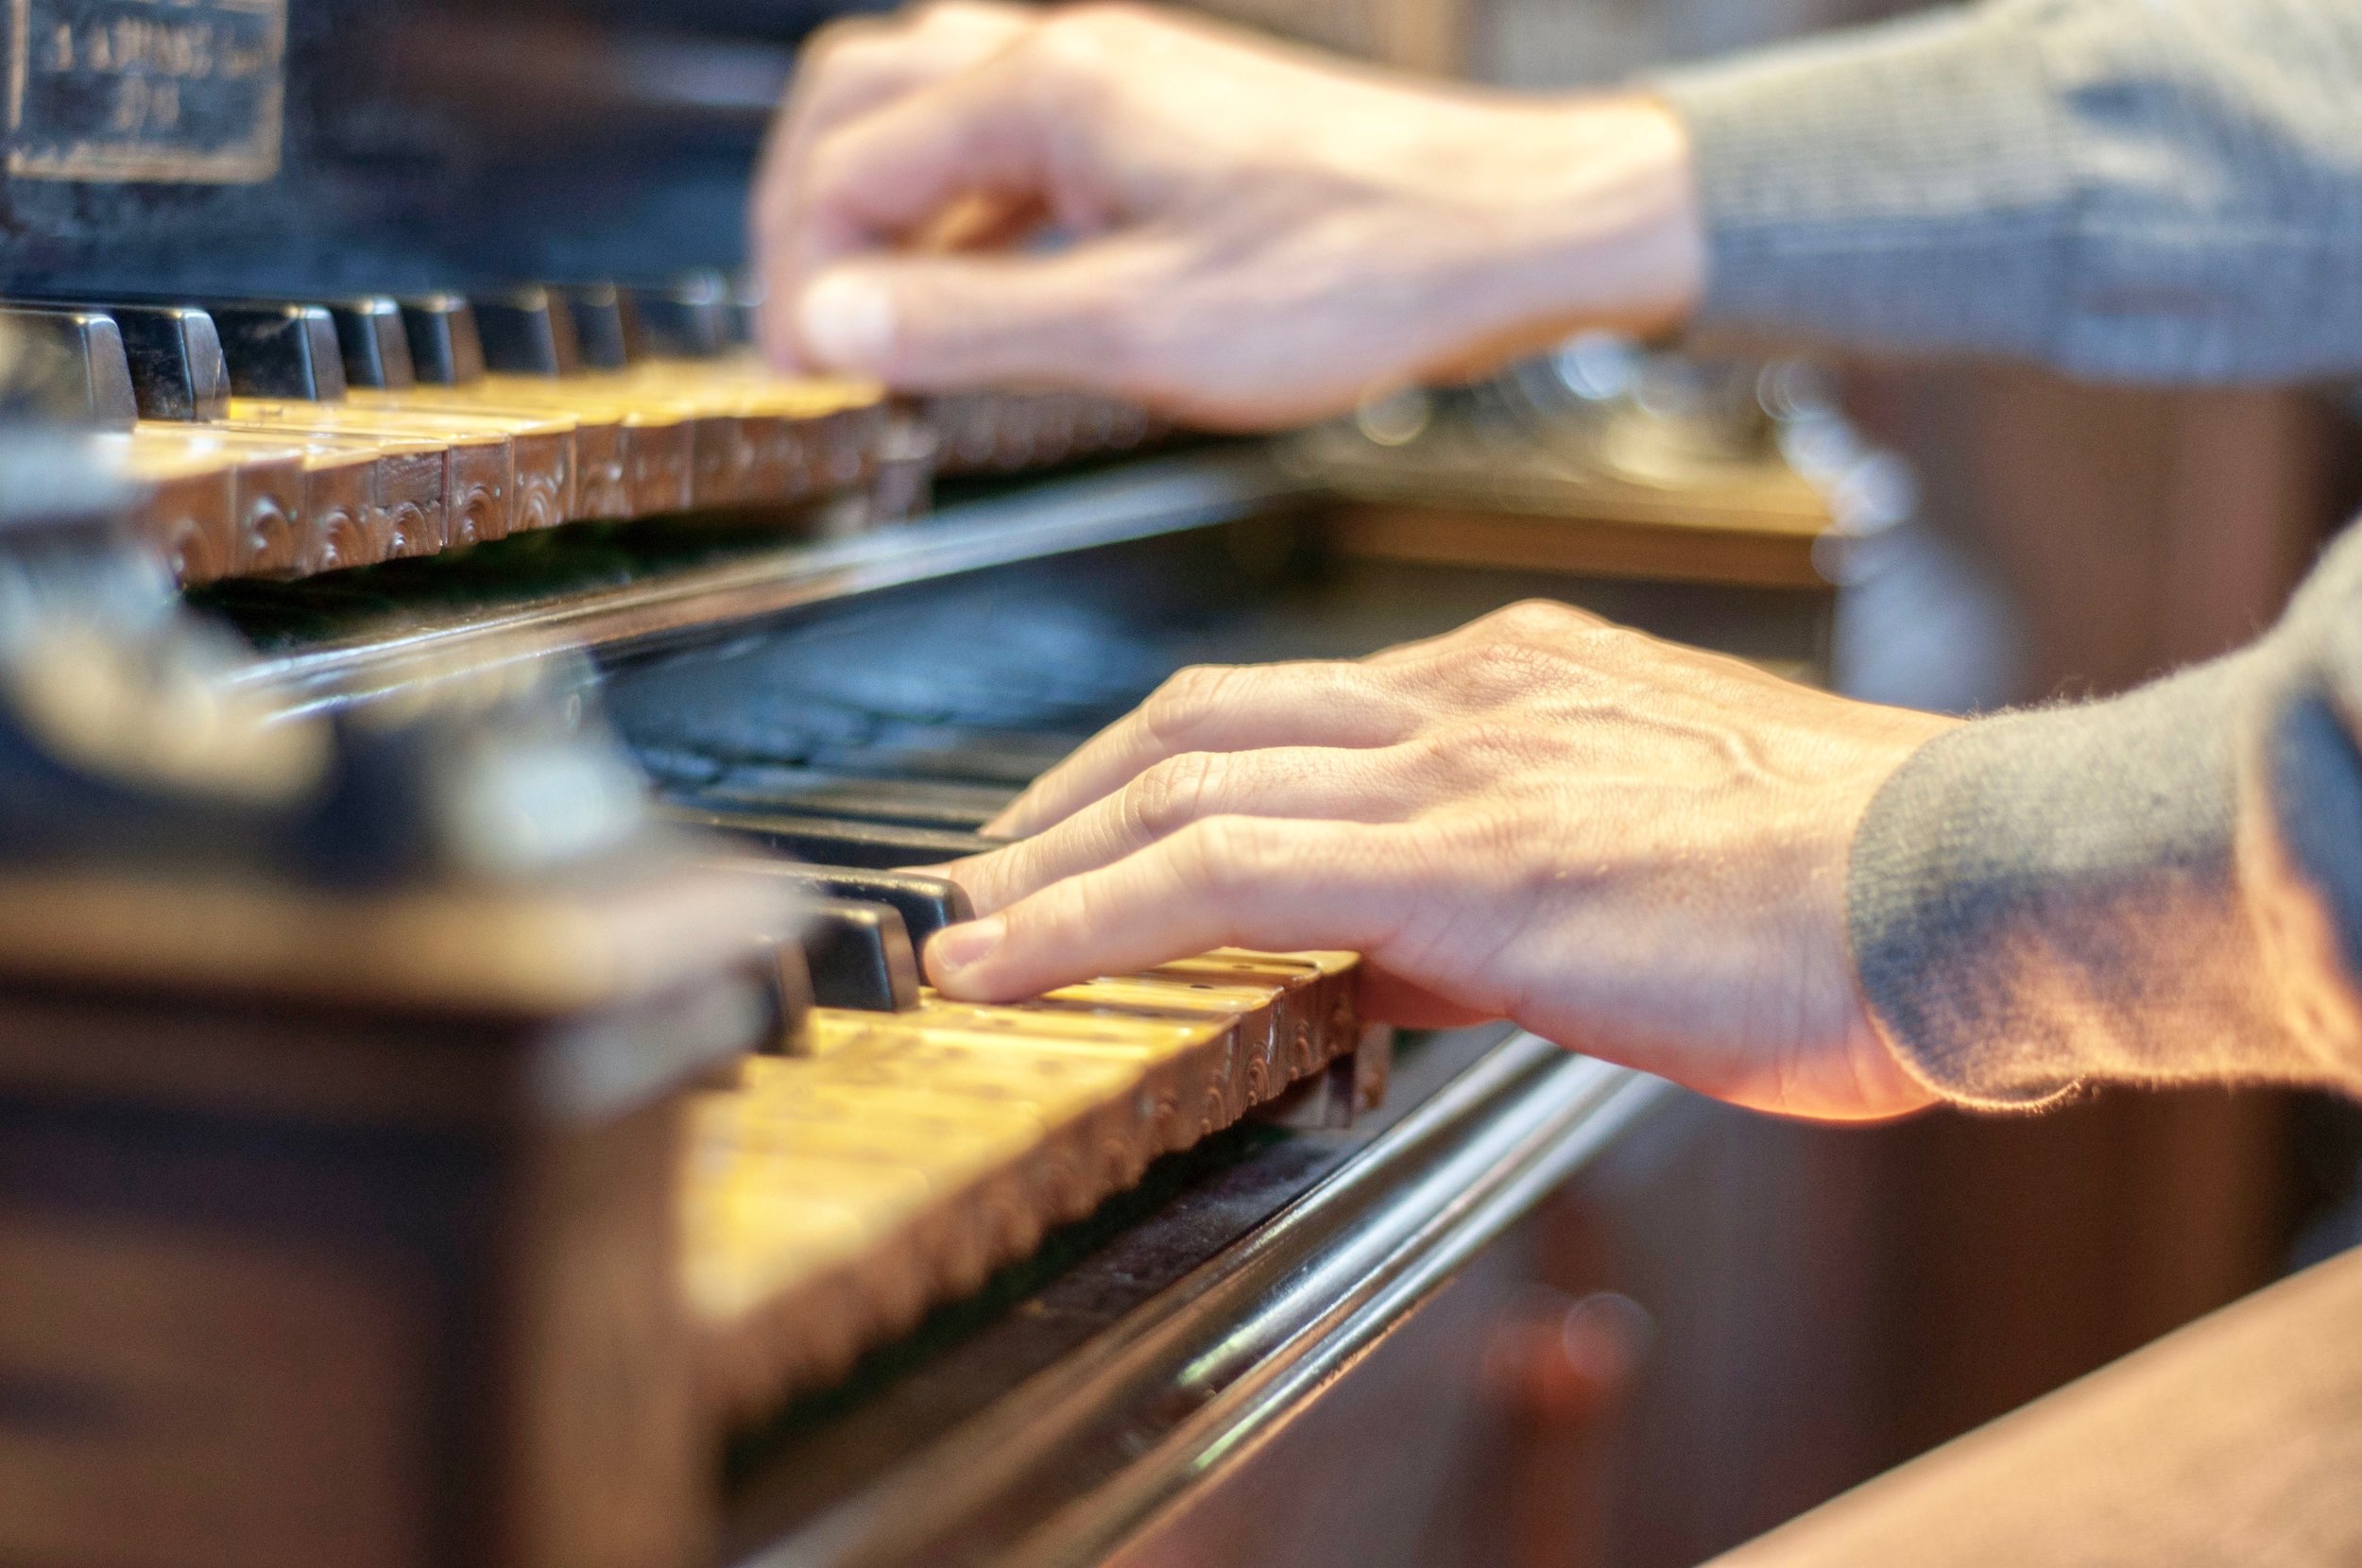
[[[1925,746],[1854,838],[1864,994],[1942,1093],[2362,1086],[2362,534],[2258,647]]]

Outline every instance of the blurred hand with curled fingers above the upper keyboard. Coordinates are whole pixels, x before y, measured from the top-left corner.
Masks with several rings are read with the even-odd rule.
[[[1044,227],[1058,248],[1011,248]],[[1134,7],[957,0],[805,50],[756,187],[784,366],[1268,427],[1578,326],[1677,324],[1703,236],[1646,97],[1389,78]]]

